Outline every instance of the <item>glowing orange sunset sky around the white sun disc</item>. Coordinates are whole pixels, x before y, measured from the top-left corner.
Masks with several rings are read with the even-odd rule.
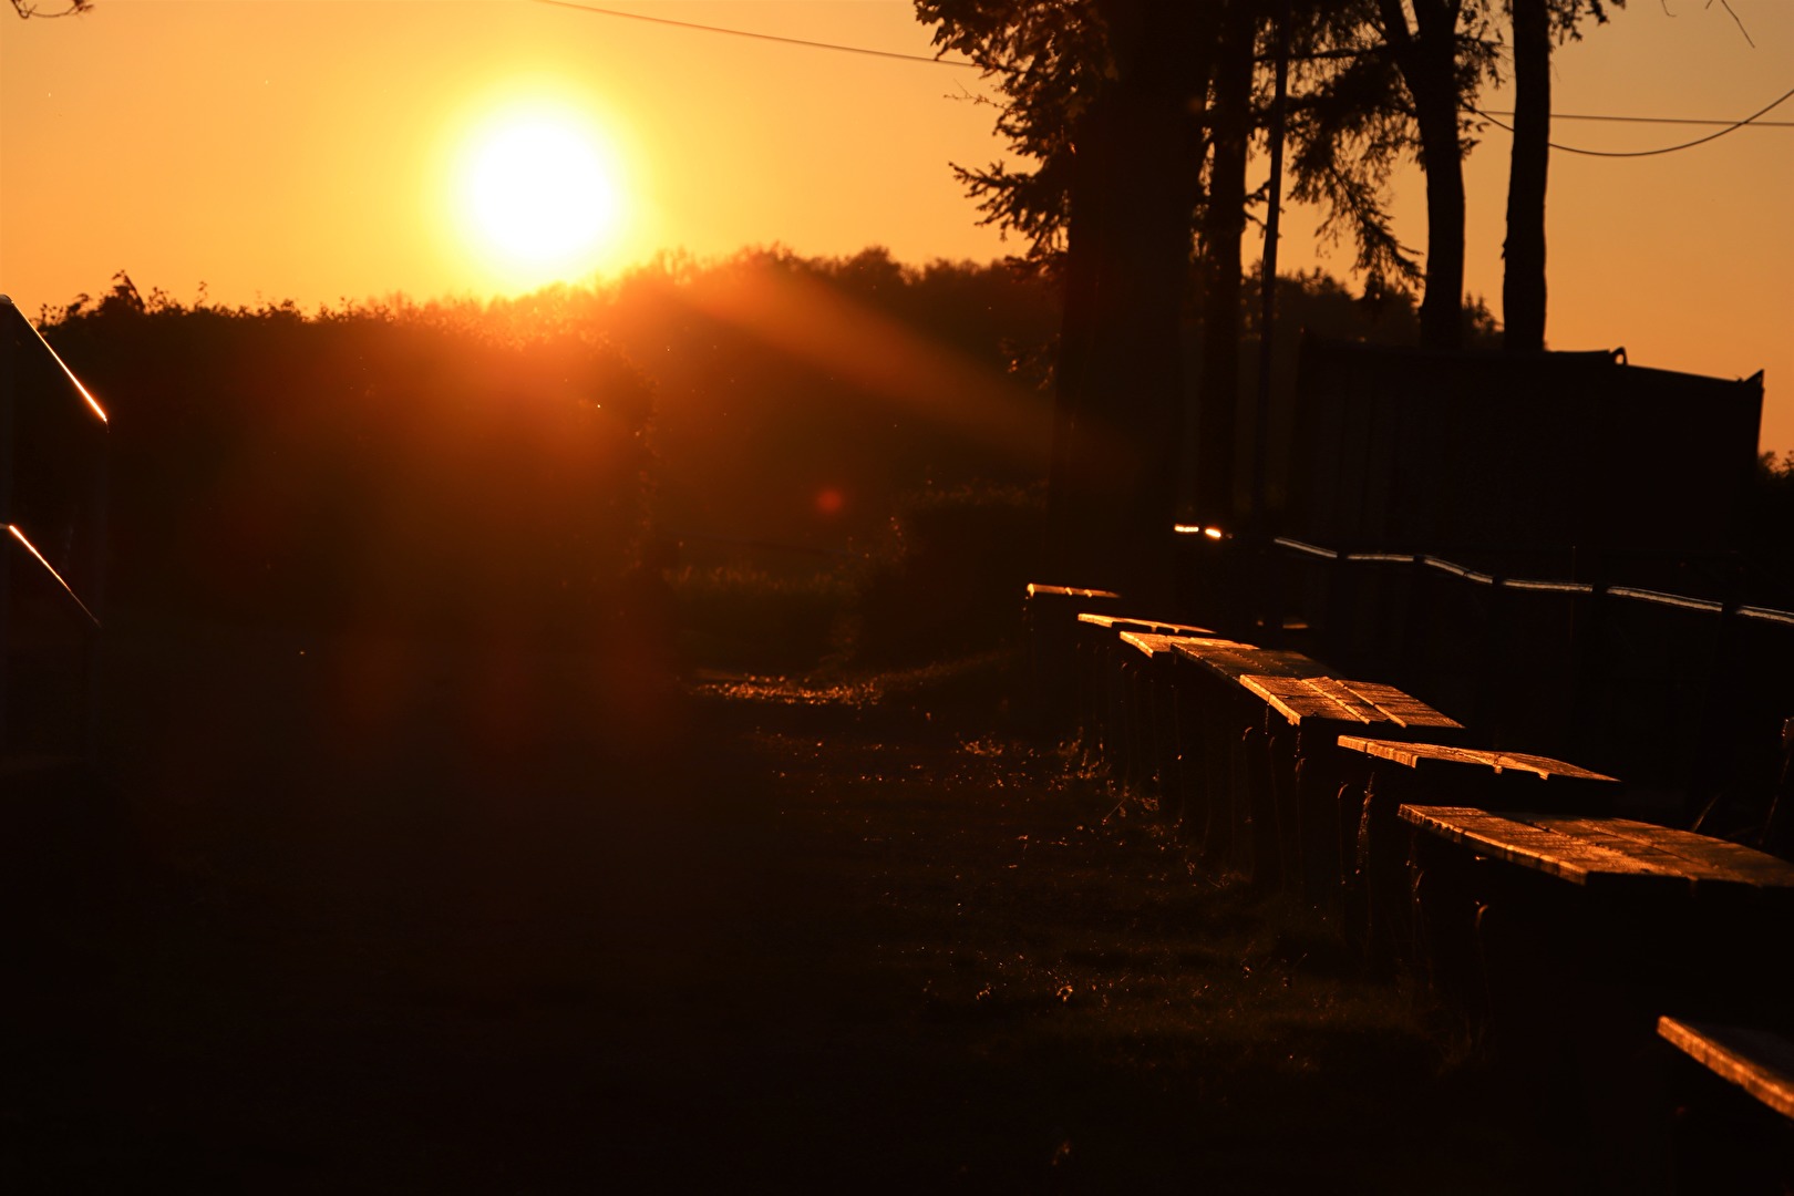
[[[39,0],[54,9],[57,0]],[[906,0],[608,0],[605,7],[927,54]],[[1737,118],[1794,86],[1794,4],[1633,0],[1557,57],[1559,113]],[[457,163],[504,104],[558,106],[606,142],[621,212],[574,280],[658,249],[782,242],[899,258],[1005,251],[947,170],[1003,156],[976,72],[829,54],[511,0],[99,0],[70,20],[0,9],[0,290],[27,312],[126,269],[190,301],[303,307],[404,290],[483,294],[495,269],[459,221]],[[1507,108],[1491,95],[1487,108]],[[1794,120],[1794,100],[1771,118]],[[1598,149],[1706,129],[1561,120]],[[1507,134],[1471,156],[1471,292],[1500,312]],[[1767,369],[1764,448],[1794,450],[1794,129],[1742,129],[1642,160],[1554,154],[1554,348],[1634,364]],[[1424,244],[1415,172],[1399,235]],[[1283,260],[1311,265],[1308,222]],[[1249,253],[1256,256],[1256,253]],[[1347,255],[1331,260],[1344,271]]]

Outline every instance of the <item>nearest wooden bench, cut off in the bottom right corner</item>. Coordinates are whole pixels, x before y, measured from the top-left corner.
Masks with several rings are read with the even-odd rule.
[[[1665,1126],[1672,1191],[1794,1191],[1794,1042],[1764,1029],[1658,1018],[1674,1047]]]

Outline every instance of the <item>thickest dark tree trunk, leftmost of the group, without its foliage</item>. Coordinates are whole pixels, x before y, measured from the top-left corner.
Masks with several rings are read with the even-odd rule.
[[[1080,120],[1049,477],[1053,568],[1145,604],[1171,592],[1182,445],[1179,323],[1195,208],[1195,140],[1177,5],[1132,22],[1121,77]],[[1166,20],[1173,22],[1166,27]],[[1110,22],[1119,29],[1121,22]]]

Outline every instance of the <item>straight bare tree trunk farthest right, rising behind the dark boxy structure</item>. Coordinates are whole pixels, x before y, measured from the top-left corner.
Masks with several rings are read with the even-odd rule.
[[[1545,348],[1545,176],[1552,136],[1552,27],[1548,0],[1514,7],[1514,152],[1507,172],[1502,247],[1502,346]]]

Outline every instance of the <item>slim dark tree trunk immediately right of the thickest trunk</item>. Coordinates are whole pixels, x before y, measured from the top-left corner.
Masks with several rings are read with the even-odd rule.
[[[1227,5],[1209,108],[1209,194],[1202,213],[1202,373],[1197,387],[1197,515],[1234,525],[1240,427],[1240,283],[1245,163],[1252,136],[1252,32],[1247,0]]]

